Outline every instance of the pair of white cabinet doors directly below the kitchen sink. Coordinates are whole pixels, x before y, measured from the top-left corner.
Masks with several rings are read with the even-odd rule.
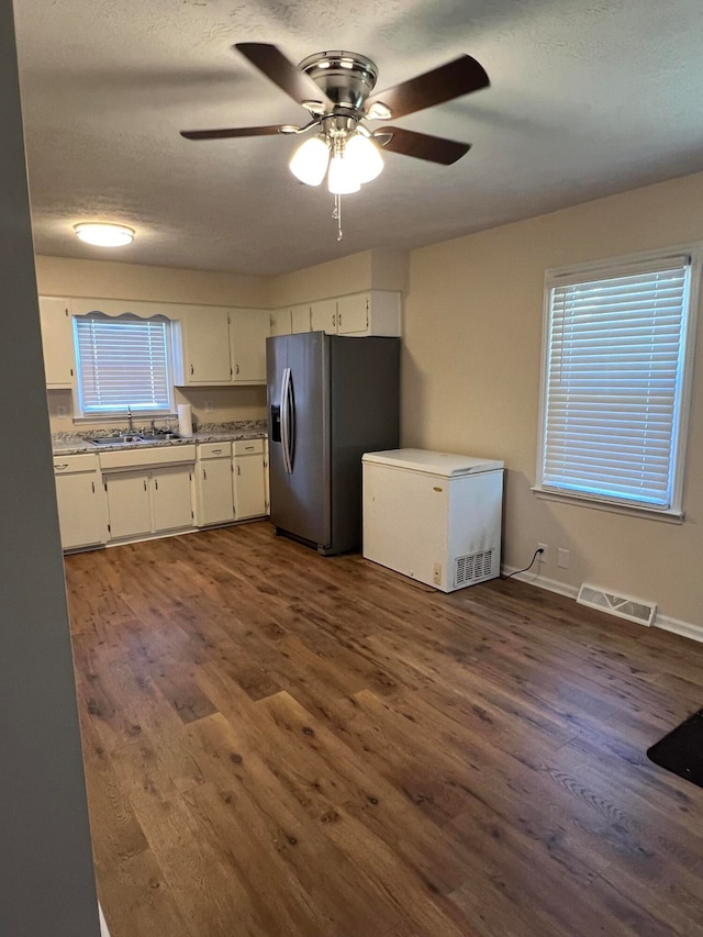
[[[110,539],[135,539],[192,527],[192,467],[111,471],[104,476]]]

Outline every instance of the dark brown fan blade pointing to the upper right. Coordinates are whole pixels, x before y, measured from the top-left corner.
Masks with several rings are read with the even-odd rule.
[[[366,101],[364,110],[368,114],[370,107],[378,102],[390,108],[392,118],[404,118],[405,114],[414,114],[433,104],[443,104],[489,85],[483,66],[470,55],[462,55],[433,71],[373,94]]]

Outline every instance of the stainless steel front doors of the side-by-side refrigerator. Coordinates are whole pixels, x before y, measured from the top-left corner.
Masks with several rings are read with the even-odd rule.
[[[328,350],[322,332],[267,341],[271,521],[325,547],[331,538]]]

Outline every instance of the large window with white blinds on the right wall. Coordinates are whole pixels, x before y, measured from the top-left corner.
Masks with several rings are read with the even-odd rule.
[[[700,252],[548,274],[537,488],[681,514]]]

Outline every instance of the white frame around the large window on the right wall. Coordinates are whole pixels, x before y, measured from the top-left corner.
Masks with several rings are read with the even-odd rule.
[[[682,324],[681,366],[679,389],[674,400],[672,419],[672,458],[669,479],[671,481],[671,503],[668,507],[628,501],[615,495],[607,497],[595,492],[579,492],[551,486],[544,481],[546,455],[546,425],[549,390],[549,352],[551,342],[551,291],[565,282],[579,282],[596,277],[632,276],[637,269],[643,272],[648,266],[667,263],[674,258],[690,258],[688,302],[684,303]],[[545,271],[544,308],[540,356],[539,421],[537,427],[537,467],[533,491],[539,498],[565,501],[582,506],[609,510],[615,513],[655,517],[662,521],[681,522],[684,517],[683,492],[689,443],[689,426],[693,389],[693,368],[695,353],[695,333],[700,315],[701,274],[703,270],[703,243],[692,242],[656,250],[639,252],[612,258],[602,258],[569,267],[550,268]]]

